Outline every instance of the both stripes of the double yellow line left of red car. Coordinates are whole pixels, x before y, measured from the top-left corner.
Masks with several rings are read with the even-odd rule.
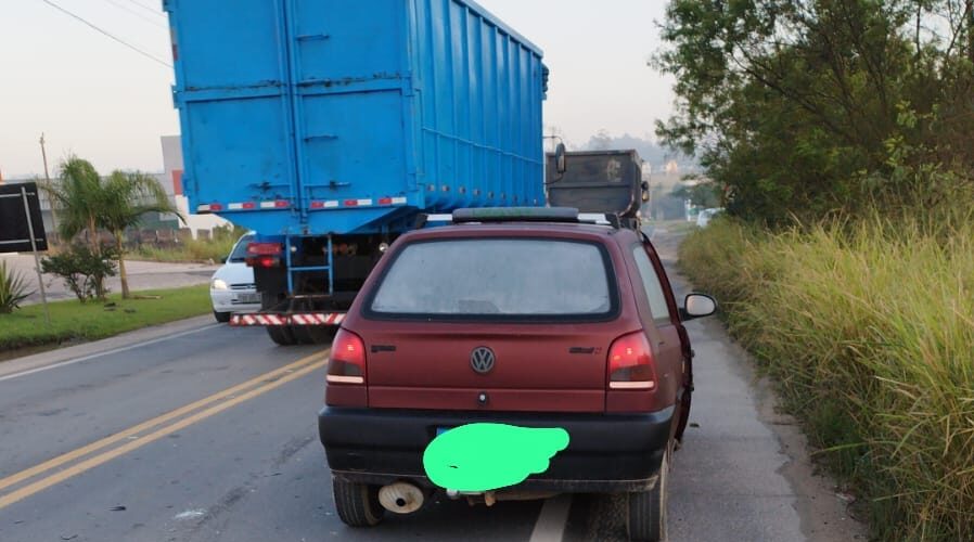
[[[254,399],[255,397],[267,393],[289,382],[296,380],[309,373],[312,373],[325,364],[328,364],[328,353],[319,352],[307,358],[295,361],[289,365],[265,373],[256,378],[252,378],[243,384],[225,389],[223,391],[214,393],[209,397],[201,399],[196,402],[187,404],[171,412],[167,412],[162,416],[154,417],[148,422],[129,427],[116,433],[110,437],[92,442],[88,446],[78,448],[65,454],[59,455],[52,460],[46,461],[39,465],[22,470],[20,473],[0,479],[0,492],[17,486],[21,482],[31,478],[47,475],[43,478],[30,482],[10,493],[0,495],[0,509],[11,504],[22,501],[39,491],[43,491],[54,485],[61,483],[68,478],[77,476],[81,473],[90,470],[99,465],[105,464],[116,457],[119,457],[132,450],[142,448],[152,443],[167,435],[184,429],[193,424],[200,423],[210,416],[219,414],[231,409],[242,402]],[[168,425],[165,425],[168,424]],[[159,427],[162,426],[162,427]],[[146,433],[148,431],[148,433]],[[120,444],[120,446],[114,446]],[[81,460],[94,452],[111,448],[98,455],[90,456],[84,461],[72,464],[71,466],[56,470],[60,467],[68,465],[72,462]],[[52,473],[53,472],[53,473]]]

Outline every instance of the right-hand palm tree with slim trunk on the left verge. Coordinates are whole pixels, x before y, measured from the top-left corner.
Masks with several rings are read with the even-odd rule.
[[[128,299],[128,274],[125,271],[125,230],[141,222],[146,212],[172,212],[182,218],[169,202],[166,191],[152,177],[140,172],[113,171],[102,183],[105,207],[98,224],[115,236],[121,297]]]

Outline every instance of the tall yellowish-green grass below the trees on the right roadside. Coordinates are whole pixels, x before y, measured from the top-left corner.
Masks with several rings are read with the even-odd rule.
[[[768,233],[719,220],[681,267],[780,384],[884,540],[974,540],[974,219]]]

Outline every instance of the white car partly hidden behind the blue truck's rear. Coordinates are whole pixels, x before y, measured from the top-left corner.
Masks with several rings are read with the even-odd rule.
[[[260,294],[254,284],[254,270],[244,258],[247,245],[254,241],[254,233],[240,237],[233,250],[209,281],[209,298],[213,300],[213,315],[217,322],[229,322],[234,312],[260,310]]]

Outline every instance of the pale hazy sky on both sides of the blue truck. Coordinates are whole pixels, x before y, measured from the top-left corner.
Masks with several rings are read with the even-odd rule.
[[[170,61],[162,0],[48,1]],[[603,129],[650,138],[672,109],[672,80],[646,66],[665,0],[479,3],[544,51],[544,124],[569,146]],[[41,133],[52,175],[71,153],[102,171],[162,170],[159,137],[179,133],[172,81],[170,68],[46,0],[0,0],[0,172],[42,175]]]

